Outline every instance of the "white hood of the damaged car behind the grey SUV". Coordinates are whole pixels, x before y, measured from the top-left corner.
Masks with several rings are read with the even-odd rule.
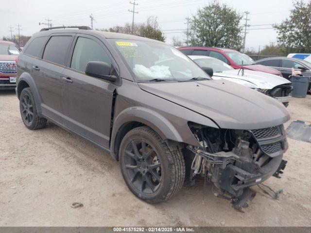
[[[225,78],[232,82],[238,82],[238,80],[244,80],[246,82],[253,83],[256,88],[260,89],[272,89],[278,85],[291,83],[285,78],[280,76],[264,73],[260,71],[244,70],[244,75],[242,76],[242,70],[239,72],[237,69],[225,70],[223,72],[215,72],[213,77]]]

